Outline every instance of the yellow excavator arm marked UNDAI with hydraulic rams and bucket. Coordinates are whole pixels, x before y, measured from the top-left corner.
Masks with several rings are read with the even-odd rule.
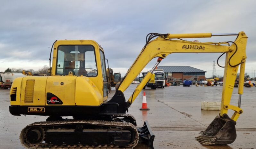
[[[220,42],[220,43],[201,43],[185,41],[180,38],[209,38],[212,36],[224,36],[224,35],[237,35],[234,42]],[[198,141],[204,145],[215,144],[230,144],[235,141],[235,138],[227,137],[227,135],[233,135],[235,131],[235,121],[237,121],[243,110],[240,108],[241,95],[243,94],[243,78],[246,60],[246,43],[247,36],[244,32],[236,34],[157,34],[151,33],[146,39],[146,45],[141,50],[139,56],[136,58],[132,66],[125,74],[123,80],[120,83],[118,91],[111,99],[114,101],[117,96],[121,96],[123,92],[129,87],[132,81],[139,75],[142,69],[153,58],[158,58],[156,65],[145,76],[141,83],[136,87],[132,96],[126,102],[126,110],[134,102],[138,94],[141,92],[149,78],[151,77],[154,69],[158,66],[162,59],[166,58],[172,53],[226,53],[225,71],[223,80],[223,91],[221,100],[221,111],[219,116],[209,125],[209,127],[202,132],[202,135],[198,137]],[[156,39],[152,40],[154,37]],[[178,38],[179,40],[173,40]],[[151,40],[151,41],[150,41]],[[238,106],[230,105],[230,100],[237,76],[238,68],[240,66],[240,78],[239,78],[239,102]],[[119,97],[120,98],[120,97]],[[110,100],[110,101],[111,101]],[[227,112],[229,109],[234,110],[234,114],[231,118],[228,117]],[[234,125],[234,128],[233,128]],[[231,130],[232,129],[232,130]],[[229,131],[229,132],[227,132]]]

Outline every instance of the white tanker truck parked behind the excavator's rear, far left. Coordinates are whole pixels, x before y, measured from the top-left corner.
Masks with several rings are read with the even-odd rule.
[[[26,76],[22,73],[4,73],[1,75],[3,83],[1,84],[1,88],[8,89],[12,86],[13,80],[17,77],[23,77]]]

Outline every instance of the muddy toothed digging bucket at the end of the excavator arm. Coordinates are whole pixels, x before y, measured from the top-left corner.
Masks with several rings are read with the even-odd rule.
[[[225,117],[216,116],[207,129],[200,132],[201,136],[196,137],[196,140],[202,145],[227,145],[233,143],[236,138],[236,122],[227,115]]]

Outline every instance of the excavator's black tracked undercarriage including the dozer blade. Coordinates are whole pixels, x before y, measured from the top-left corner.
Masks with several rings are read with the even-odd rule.
[[[21,144],[26,148],[133,148],[140,141],[153,148],[154,135],[148,124],[136,128],[130,114],[112,115],[103,120],[59,119],[49,117],[21,131]],[[147,122],[145,122],[147,123]],[[149,127],[149,128],[148,128]]]

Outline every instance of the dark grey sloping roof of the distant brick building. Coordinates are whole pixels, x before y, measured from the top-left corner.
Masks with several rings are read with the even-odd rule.
[[[172,73],[186,73],[186,72],[199,72],[206,73],[207,71],[197,69],[190,66],[158,66],[158,69],[164,69],[164,72],[172,72]]]

